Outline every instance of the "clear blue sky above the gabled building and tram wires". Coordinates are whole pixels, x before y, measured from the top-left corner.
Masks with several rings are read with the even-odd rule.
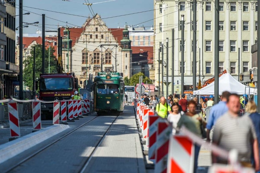
[[[128,25],[147,26],[153,25],[153,0],[88,0],[92,3],[93,12],[98,13],[109,28],[123,27],[125,22]],[[86,2],[88,2],[86,0]],[[109,2],[104,2],[109,1]],[[97,3],[103,2],[103,3]],[[56,30],[59,26],[78,26],[81,27],[87,17],[92,17],[87,5],[83,5],[85,0],[23,0],[23,13],[30,12],[30,15],[23,15],[23,22],[39,22],[39,26],[30,25],[23,28],[23,33],[36,33],[36,30],[42,30],[42,14],[45,14],[45,30]],[[95,4],[97,3],[97,4]],[[33,9],[37,8],[37,9]],[[43,9],[43,10],[42,10]],[[49,12],[46,10],[54,11]],[[143,12],[151,10],[149,12]],[[68,13],[73,15],[61,14]],[[92,12],[92,13],[93,13]],[[142,12],[132,15],[121,16],[130,13]],[[36,14],[35,14],[36,13]],[[16,0],[16,15],[19,15],[19,0]],[[84,16],[84,17],[81,17]],[[50,19],[52,18],[52,19]],[[56,20],[55,20],[56,19]],[[58,21],[59,20],[59,21]],[[150,21],[148,21],[150,20]],[[148,22],[145,22],[148,21]],[[19,16],[16,17],[16,26],[19,26]],[[136,27],[136,26],[135,26]],[[19,33],[19,30],[16,31]]]

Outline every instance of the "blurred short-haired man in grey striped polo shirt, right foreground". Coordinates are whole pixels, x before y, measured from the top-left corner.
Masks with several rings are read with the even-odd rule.
[[[239,116],[240,102],[237,94],[229,96],[227,107],[228,112],[218,118],[215,124],[213,143],[227,151],[236,149],[238,161],[243,166],[251,166],[250,157],[253,144],[256,160],[255,169],[259,170],[258,142],[255,128],[249,116]],[[223,163],[223,161],[218,160],[215,154],[212,153],[212,156],[212,162]]]

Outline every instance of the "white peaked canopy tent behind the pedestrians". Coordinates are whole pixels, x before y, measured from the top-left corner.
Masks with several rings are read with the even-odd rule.
[[[193,92],[193,95],[214,95],[214,85],[215,81],[211,84]],[[222,92],[228,91],[230,93],[235,93],[238,95],[249,94],[249,87],[241,84],[235,78],[233,78],[229,73],[222,74],[219,77],[219,92],[218,95],[222,95]],[[254,88],[250,88],[250,94],[254,94]]]

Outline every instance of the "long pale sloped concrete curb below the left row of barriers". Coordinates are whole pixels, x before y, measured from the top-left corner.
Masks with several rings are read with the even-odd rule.
[[[64,124],[53,125],[0,145],[0,164],[69,127]]]

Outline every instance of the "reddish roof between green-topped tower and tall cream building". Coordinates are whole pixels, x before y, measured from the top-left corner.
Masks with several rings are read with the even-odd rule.
[[[153,46],[131,46],[131,49],[132,62],[153,64]]]

